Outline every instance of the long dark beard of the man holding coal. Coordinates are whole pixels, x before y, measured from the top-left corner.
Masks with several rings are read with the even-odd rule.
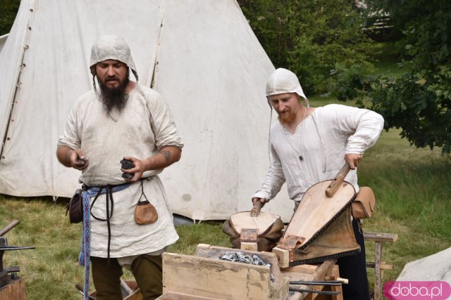
[[[111,89],[106,86],[106,84],[99,81],[99,87],[101,91],[100,100],[104,105],[104,111],[106,112],[107,116],[111,116],[110,113],[114,107],[117,108],[119,113],[121,113],[125,108],[128,100],[128,93],[125,93],[125,88],[127,87],[129,82],[130,80],[128,79],[128,77],[126,77],[120,86]]]

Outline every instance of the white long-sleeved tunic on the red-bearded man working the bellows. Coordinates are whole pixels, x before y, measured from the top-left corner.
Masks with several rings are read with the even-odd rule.
[[[294,133],[276,122],[270,131],[271,167],[252,197],[271,200],[286,181],[290,199],[300,201],[311,185],[338,174],[345,154],[363,154],[376,143],[382,129],[378,113],[337,104],[317,107]],[[345,180],[359,191],[357,169]]]

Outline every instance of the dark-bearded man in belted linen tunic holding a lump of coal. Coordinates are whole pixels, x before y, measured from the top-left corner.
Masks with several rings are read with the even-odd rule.
[[[75,101],[56,152],[61,164],[82,171],[85,299],[91,263],[98,300],[123,299],[123,267],[144,299],[156,299],[161,253],[178,240],[158,174],[180,159],[183,141],[159,93],[129,80],[130,70],[138,78],[124,39],[99,37],[89,68],[94,90]],[[121,168],[122,159],[131,169]],[[137,202],[152,208],[149,223],[137,219]]]

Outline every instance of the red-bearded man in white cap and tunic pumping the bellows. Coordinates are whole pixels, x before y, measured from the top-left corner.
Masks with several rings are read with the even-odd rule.
[[[358,192],[356,168],[364,151],[376,143],[383,117],[345,105],[310,107],[297,76],[283,68],[268,79],[266,97],[278,113],[279,122],[271,126],[269,133],[271,166],[252,202],[264,205],[287,183],[296,211],[311,185],[334,178],[345,161],[351,169],[345,180]],[[364,238],[357,222],[353,219],[352,226],[361,252],[337,261],[340,277],[349,279],[349,285],[342,286],[345,300],[369,299]]]

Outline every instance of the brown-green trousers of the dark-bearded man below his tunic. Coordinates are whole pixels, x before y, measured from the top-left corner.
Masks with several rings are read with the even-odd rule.
[[[97,300],[123,300],[121,291],[122,267],[117,259],[91,256],[92,281]],[[154,300],[163,293],[161,255],[141,255],[132,263],[132,273],[144,300]]]

